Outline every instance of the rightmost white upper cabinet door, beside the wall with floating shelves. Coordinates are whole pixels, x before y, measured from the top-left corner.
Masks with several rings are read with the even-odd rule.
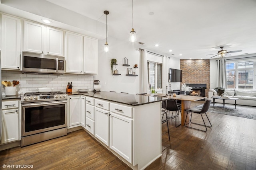
[[[84,74],[98,74],[98,39],[84,37]]]

